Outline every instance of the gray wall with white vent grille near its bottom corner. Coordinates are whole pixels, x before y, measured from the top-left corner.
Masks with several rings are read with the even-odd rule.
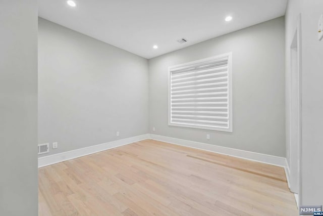
[[[49,154],[148,133],[146,59],[42,18],[38,37],[38,142],[59,143]]]

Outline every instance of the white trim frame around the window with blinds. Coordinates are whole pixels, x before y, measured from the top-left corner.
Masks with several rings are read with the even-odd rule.
[[[223,57],[228,57],[228,128],[221,128],[221,127],[208,127],[204,125],[187,125],[187,124],[182,124],[182,123],[172,123],[171,122],[171,70],[174,68],[178,67],[184,67],[188,65],[193,65],[193,64],[198,64],[214,59],[219,59]],[[199,129],[207,129],[211,131],[224,131],[224,132],[233,132],[233,115],[232,115],[232,52],[218,55],[218,56],[213,56],[205,59],[200,59],[197,61],[192,61],[192,62],[187,62],[184,64],[179,64],[179,65],[174,65],[170,66],[168,68],[168,125],[171,126],[180,126],[180,127],[190,127],[190,128],[199,128]]]

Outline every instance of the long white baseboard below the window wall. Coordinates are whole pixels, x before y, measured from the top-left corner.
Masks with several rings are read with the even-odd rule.
[[[287,165],[285,157],[278,157],[278,156],[244,151],[244,150],[233,149],[233,148],[228,148],[223,146],[210,145],[206,143],[199,143],[199,142],[182,140],[182,139],[160,136],[155,134],[150,134],[150,139],[162,141],[166,143],[172,143],[180,146],[191,147],[195,149],[201,149],[201,150],[210,151],[214,153],[229,155],[233,157],[239,157],[239,158],[271,164],[275,166],[285,167]]]

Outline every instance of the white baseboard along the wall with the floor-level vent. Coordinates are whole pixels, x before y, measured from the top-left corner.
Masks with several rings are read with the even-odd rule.
[[[47,166],[50,164],[59,163],[62,161],[66,161],[66,160],[74,159],[77,157],[82,157],[85,155],[104,151],[107,149],[112,149],[112,148],[116,148],[119,146],[128,145],[128,144],[139,142],[141,140],[146,140],[149,138],[150,138],[149,134],[144,134],[144,135],[139,135],[136,137],[130,137],[130,138],[122,139],[122,140],[112,141],[109,143],[103,143],[103,144],[99,144],[99,145],[95,145],[95,146],[89,146],[89,147],[85,147],[85,148],[81,148],[81,149],[62,152],[59,154],[53,154],[53,155],[49,155],[49,156],[45,156],[45,157],[39,157],[38,158],[38,167],[43,167],[43,166]]]

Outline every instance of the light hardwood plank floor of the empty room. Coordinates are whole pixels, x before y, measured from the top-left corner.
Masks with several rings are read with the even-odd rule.
[[[145,140],[39,168],[39,215],[298,215],[282,167]]]

